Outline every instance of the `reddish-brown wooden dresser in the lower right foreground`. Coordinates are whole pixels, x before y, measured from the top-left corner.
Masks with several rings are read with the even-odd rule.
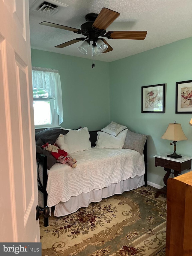
[[[166,256],[192,255],[192,171],[167,180]]]

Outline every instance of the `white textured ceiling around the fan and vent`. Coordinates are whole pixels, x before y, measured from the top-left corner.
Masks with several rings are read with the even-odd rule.
[[[29,0],[29,6],[40,5],[44,0]],[[52,2],[52,0],[46,0]],[[31,48],[91,59],[91,47],[87,55],[77,50],[82,42],[64,48],[58,44],[84,37],[71,31],[39,25],[42,21],[80,29],[85,15],[99,13],[103,7],[120,13],[106,29],[146,30],[145,40],[106,39],[113,51],[95,59],[111,62],[146,50],[192,36],[192,0],[60,0],[68,5],[53,16],[29,8]]]

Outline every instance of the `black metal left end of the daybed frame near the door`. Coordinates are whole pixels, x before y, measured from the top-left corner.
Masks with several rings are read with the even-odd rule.
[[[44,208],[47,206],[47,191],[46,191],[46,186],[47,186],[47,156],[42,155],[42,154],[37,154],[37,162],[38,162],[38,190],[40,190],[43,193],[43,202],[44,202]],[[39,176],[39,165],[42,165],[43,168],[43,185],[40,180]],[[44,216],[44,227],[47,227],[49,225],[49,218],[45,218]]]

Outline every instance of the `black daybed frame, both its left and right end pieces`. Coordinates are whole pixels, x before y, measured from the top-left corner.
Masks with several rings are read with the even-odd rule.
[[[38,174],[38,190],[43,193],[43,199],[44,199],[44,208],[47,206],[47,191],[46,191],[46,186],[47,186],[47,156],[43,154],[36,154],[37,159],[38,159],[38,167],[37,167],[37,174]],[[145,161],[145,174],[144,174],[144,186],[147,186],[147,140],[144,146],[143,150],[143,155],[144,155],[144,161]],[[40,180],[39,176],[39,166],[40,164],[43,167],[43,185]],[[47,227],[49,225],[49,220],[48,218],[44,217],[44,227]]]

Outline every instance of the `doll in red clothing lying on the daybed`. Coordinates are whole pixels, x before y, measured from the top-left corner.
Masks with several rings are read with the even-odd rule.
[[[57,146],[46,143],[42,146],[42,148],[48,150],[50,154],[57,159],[58,163],[68,164],[72,168],[77,166],[75,158],[72,158],[70,154],[64,150],[61,150]]]

